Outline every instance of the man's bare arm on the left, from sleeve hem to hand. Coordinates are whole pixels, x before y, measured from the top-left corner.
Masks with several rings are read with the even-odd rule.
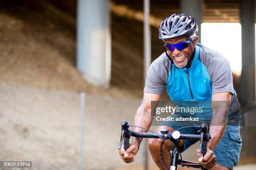
[[[150,128],[152,117],[151,117],[151,101],[159,101],[161,95],[153,94],[144,92],[143,95],[143,102],[138,107],[138,110],[136,112],[136,115],[134,117],[134,125],[143,127],[143,128]],[[147,130],[142,128],[133,128],[133,131],[136,132],[147,132]],[[129,148],[125,151],[123,149],[123,146],[120,150],[118,150],[119,155],[123,159],[125,163],[131,163],[134,160],[134,157],[136,156],[139,146],[141,144],[142,138],[133,138],[132,143],[130,144]]]

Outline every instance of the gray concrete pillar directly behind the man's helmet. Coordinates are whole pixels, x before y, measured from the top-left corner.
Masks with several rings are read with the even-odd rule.
[[[201,23],[202,23],[203,0],[181,0],[181,13],[187,13],[195,18],[198,25],[198,42],[201,42]]]

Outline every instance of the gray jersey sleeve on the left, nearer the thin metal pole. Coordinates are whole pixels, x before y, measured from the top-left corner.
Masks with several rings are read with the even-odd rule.
[[[159,74],[157,74],[159,71],[159,67],[156,67],[155,63],[153,62],[148,68],[144,92],[162,95],[165,83],[160,78]]]

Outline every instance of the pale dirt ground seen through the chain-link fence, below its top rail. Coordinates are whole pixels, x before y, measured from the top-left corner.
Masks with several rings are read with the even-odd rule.
[[[84,168],[123,166],[120,122],[132,122],[139,100],[86,95]],[[118,127],[118,128],[117,128]],[[33,169],[78,169],[80,95],[0,87],[0,160],[31,160]],[[138,156],[135,163],[139,163]]]

